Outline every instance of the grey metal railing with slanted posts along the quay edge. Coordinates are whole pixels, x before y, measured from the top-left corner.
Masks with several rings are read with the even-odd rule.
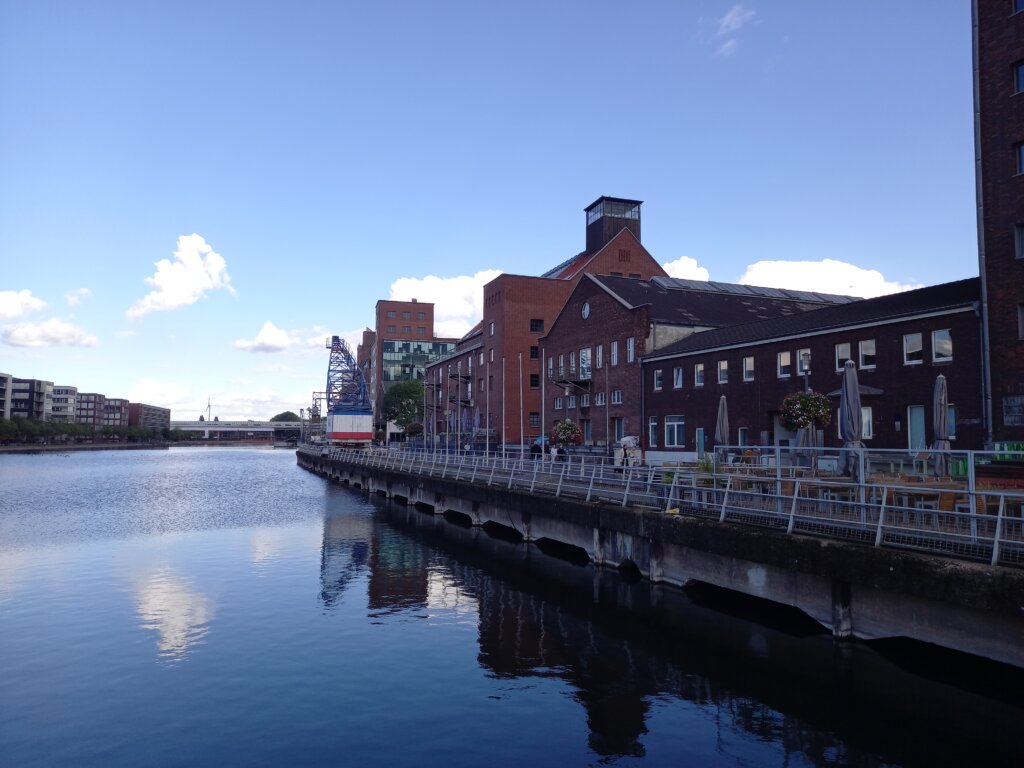
[[[304,445],[312,457],[371,469],[501,486],[584,502],[772,528],[866,546],[1024,567],[1024,488],[927,483],[894,475],[863,482],[713,466],[614,466],[603,457],[418,452]],[[911,475],[912,477],[912,475]]]

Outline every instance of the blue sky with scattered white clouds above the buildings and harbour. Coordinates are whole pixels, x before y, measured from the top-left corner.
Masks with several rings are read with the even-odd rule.
[[[0,371],[297,412],[327,335],[458,335],[601,195],[679,276],[973,276],[971,89],[968,0],[0,0]]]

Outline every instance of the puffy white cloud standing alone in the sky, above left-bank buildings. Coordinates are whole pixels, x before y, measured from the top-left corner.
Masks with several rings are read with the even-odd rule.
[[[177,249],[175,261],[161,259],[156,262],[156,273],[145,279],[156,290],[128,309],[129,318],[194,304],[206,296],[207,291],[223,289],[234,295],[227,263],[206,240],[199,234],[183,234],[178,238]]]

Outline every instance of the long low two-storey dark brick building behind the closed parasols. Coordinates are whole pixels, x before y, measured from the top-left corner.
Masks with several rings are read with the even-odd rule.
[[[795,444],[796,433],[779,423],[779,408],[786,394],[807,386],[831,399],[833,424],[821,444],[842,445],[836,411],[847,359],[857,364],[867,447],[931,444],[935,378],[943,374],[951,445],[980,449],[979,296],[979,281],[972,278],[706,331],[648,355],[642,395],[647,459],[678,460],[712,447],[723,394],[728,444]]]

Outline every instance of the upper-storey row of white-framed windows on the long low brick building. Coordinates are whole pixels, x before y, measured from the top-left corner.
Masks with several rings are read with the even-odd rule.
[[[1024,305],[1021,305],[1024,308]],[[1021,338],[1024,338],[1024,311],[1021,317]],[[835,347],[836,372],[839,373],[846,366],[846,361],[853,359],[852,345],[849,342],[837,344]],[[873,369],[877,361],[874,339],[865,339],[857,342],[857,364],[860,369]],[[953,359],[953,340],[949,329],[932,331],[932,361],[951,362]],[[794,360],[799,369],[794,371]],[[903,365],[920,366],[925,361],[924,335],[921,333],[905,334],[903,336]],[[717,361],[718,383],[727,384],[729,381],[729,361],[722,359]],[[787,379],[797,373],[799,375],[810,374],[811,372],[811,350],[809,348],[798,349],[796,357],[787,351],[778,352],[775,355],[775,376],[779,379]],[[743,381],[754,381],[755,365],[754,356],[748,355],[742,359]],[[693,386],[702,387],[705,384],[705,364],[697,362],[693,366]],[[672,370],[672,387],[681,389],[683,386],[683,369],[676,367]],[[654,390],[664,388],[662,369],[654,371]]]

